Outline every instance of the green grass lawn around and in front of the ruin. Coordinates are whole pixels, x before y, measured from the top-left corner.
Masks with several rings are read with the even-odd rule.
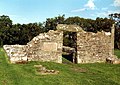
[[[120,52],[120,51],[119,51]],[[115,51],[117,55],[120,55]],[[94,63],[65,64],[29,62],[10,64],[4,50],[0,49],[0,85],[120,85],[120,65]],[[33,67],[41,64],[60,71],[57,75],[38,75]]]

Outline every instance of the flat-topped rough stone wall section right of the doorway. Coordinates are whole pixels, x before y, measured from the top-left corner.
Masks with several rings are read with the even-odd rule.
[[[111,33],[77,33],[78,63],[105,62],[106,58],[111,56]]]

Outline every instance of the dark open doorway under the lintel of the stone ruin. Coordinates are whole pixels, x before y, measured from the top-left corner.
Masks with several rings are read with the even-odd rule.
[[[72,63],[77,63],[77,33],[76,32],[63,32],[63,58]]]

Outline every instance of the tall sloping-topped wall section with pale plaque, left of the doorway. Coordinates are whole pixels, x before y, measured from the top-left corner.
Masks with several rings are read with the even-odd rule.
[[[34,37],[27,44],[29,61],[54,61],[62,63],[63,32],[49,31]]]

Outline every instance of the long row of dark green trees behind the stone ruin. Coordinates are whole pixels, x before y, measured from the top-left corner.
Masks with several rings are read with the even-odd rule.
[[[47,32],[49,30],[56,30],[57,24],[75,24],[83,28],[88,32],[97,31],[111,31],[111,26],[116,18],[120,18],[119,14],[110,15],[108,18],[96,18],[84,19],[78,16],[65,18],[65,15],[59,15],[54,18],[47,18],[44,23],[29,23],[29,24],[12,24],[12,20],[9,16],[0,16],[0,46],[5,44],[26,44],[33,37],[37,36],[41,32]],[[113,19],[114,18],[114,19]],[[113,20],[112,20],[113,19]],[[115,48],[120,49],[120,30],[119,23],[116,23],[115,31]],[[67,34],[70,38],[71,35]],[[66,35],[64,35],[66,36]],[[71,46],[74,44],[72,38],[64,38],[64,44]],[[70,43],[70,45],[68,45]]]

